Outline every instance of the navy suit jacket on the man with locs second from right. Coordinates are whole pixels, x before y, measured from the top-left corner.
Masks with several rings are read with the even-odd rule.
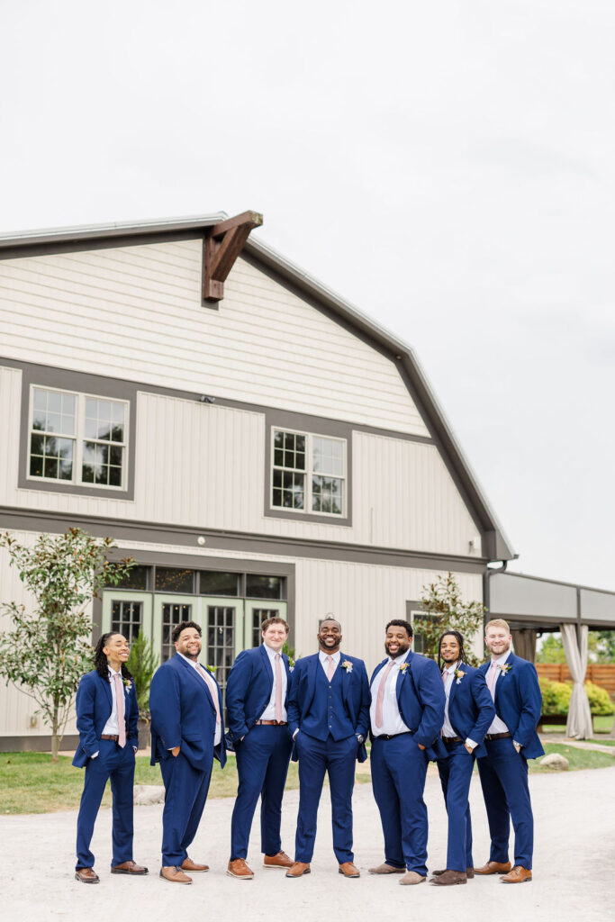
[[[464,675],[453,679],[448,696],[448,719],[455,730],[455,736],[464,741],[469,737],[479,743],[474,752],[481,759],[487,755],[483,739],[495,716],[491,691],[479,669],[463,663],[457,669]]]

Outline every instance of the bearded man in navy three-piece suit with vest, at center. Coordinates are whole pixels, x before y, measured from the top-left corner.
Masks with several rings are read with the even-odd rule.
[[[289,722],[299,758],[299,814],[295,861],[286,876],[310,873],[318,802],[329,776],[333,850],[339,873],[359,877],[352,853],[352,788],[355,762],[365,762],[370,690],[365,664],[340,653],[342,629],[327,617],[316,635],[320,652],[297,661],[290,682]]]

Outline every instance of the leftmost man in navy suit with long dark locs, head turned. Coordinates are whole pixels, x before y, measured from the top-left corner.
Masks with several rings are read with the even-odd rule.
[[[112,874],[147,874],[133,860],[133,784],[138,746],[135,683],[126,668],[128,641],[120,633],[102,634],[95,665],[79,682],[79,745],[73,764],[86,769],[77,817],[77,868],[82,883],[99,883],[89,844],[109,778],[113,797]]]

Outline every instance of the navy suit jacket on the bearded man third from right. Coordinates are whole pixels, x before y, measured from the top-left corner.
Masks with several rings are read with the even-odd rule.
[[[400,670],[396,681],[397,707],[402,720],[412,730],[415,742],[425,747],[430,759],[446,754],[440,731],[444,724],[444,682],[437,664],[413,653],[406,657],[408,668]],[[388,658],[373,670],[372,680],[386,666]]]

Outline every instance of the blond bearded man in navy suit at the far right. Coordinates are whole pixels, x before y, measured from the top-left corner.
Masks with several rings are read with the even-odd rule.
[[[511,651],[513,637],[497,618],[485,628],[491,660],[480,671],[495,704],[495,717],[485,737],[487,756],[479,760],[491,854],[476,874],[503,874],[503,883],[532,880],[534,817],[527,786],[527,759],[544,754],[536,727],[542,710],[538,675],[532,663]],[[508,860],[510,822],[514,828],[514,867]]]

